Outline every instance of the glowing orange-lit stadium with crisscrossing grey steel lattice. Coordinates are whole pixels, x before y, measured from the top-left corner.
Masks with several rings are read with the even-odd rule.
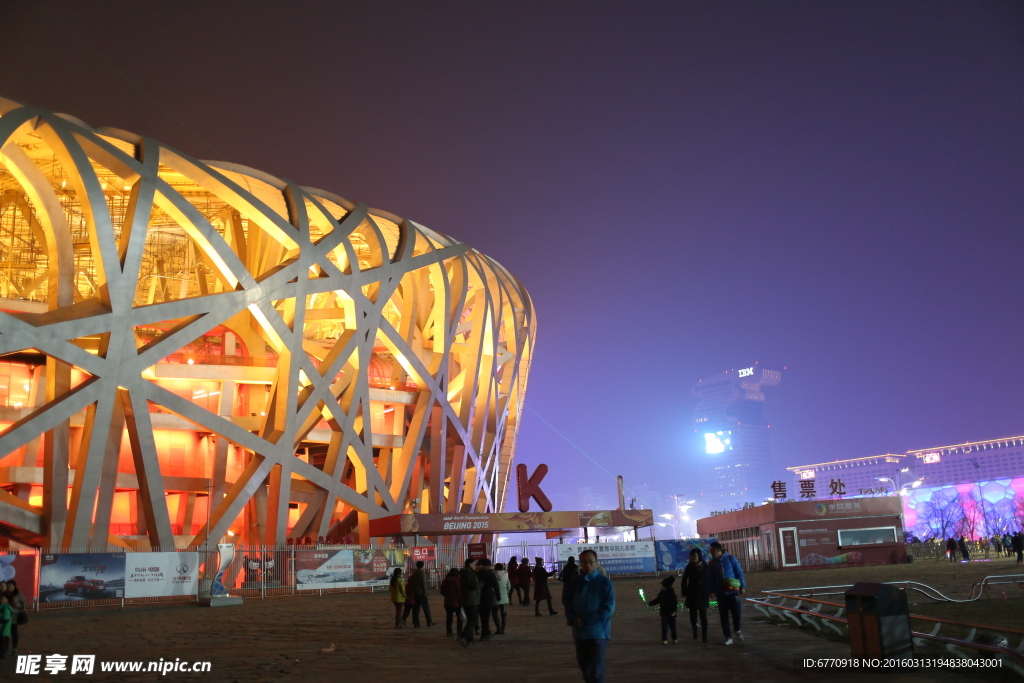
[[[502,509],[536,322],[468,246],[0,99],[0,535],[367,543]]]

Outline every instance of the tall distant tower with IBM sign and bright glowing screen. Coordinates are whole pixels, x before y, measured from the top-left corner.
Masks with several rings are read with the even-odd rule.
[[[781,372],[755,364],[693,386],[699,399],[693,422],[700,447],[696,500],[701,513],[735,510],[767,495],[772,457],[761,388],[781,379]]]

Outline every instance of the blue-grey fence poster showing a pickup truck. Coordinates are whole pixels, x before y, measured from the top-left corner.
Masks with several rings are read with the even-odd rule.
[[[42,602],[103,600],[125,596],[124,553],[43,553],[39,567]]]

